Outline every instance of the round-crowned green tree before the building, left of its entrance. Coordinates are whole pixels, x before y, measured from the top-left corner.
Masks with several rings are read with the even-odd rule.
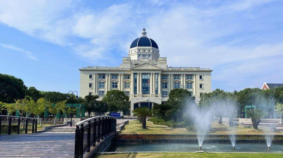
[[[120,90],[108,91],[102,101],[108,105],[110,112],[124,111],[130,108],[129,97]]]

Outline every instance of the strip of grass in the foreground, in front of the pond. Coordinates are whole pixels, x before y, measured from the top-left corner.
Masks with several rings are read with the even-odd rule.
[[[180,158],[180,157],[223,157],[223,158],[259,158],[259,157],[283,157],[282,153],[187,153],[187,152],[175,152],[175,153],[119,153],[119,154],[101,154],[96,155],[97,158]]]

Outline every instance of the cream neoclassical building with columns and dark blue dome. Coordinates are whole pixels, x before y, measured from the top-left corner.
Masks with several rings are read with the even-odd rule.
[[[120,66],[87,66],[80,68],[80,96],[99,95],[101,100],[109,90],[124,91],[130,97],[131,108],[151,108],[154,104],[166,103],[170,90],[183,88],[191,92],[199,102],[201,93],[211,92],[209,68],[169,67],[167,58],[159,56],[159,48],[147,37],[145,28],[141,37],[130,45],[128,57],[123,57]],[[149,81],[149,84],[148,84]]]

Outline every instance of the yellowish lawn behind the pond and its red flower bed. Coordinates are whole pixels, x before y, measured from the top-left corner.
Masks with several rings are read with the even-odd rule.
[[[155,125],[151,122],[147,122],[147,129],[141,128],[141,123],[139,121],[129,121],[128,125],[125,125],[125,130],[121,130],[121,134],[196,134],[196,132],[186,131],[185,128],[167,128]],[[213,122],[211,128],[214,132],[209,134],[229,134],[229,126],[224,124],[218,124],[218,122]],[[252,128],[243,128],[237,126],[236,134],[253,134],[253,135],[264,135],[261,130],[254,130]],[[276,135],[283,135],[282,132],[275,132]]]

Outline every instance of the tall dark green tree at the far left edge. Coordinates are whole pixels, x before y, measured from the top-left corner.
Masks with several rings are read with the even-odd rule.
[[[23,99],[27,86],[23,80],[11,75],[0,74],[0,101],[14,103],[14,99]]]

